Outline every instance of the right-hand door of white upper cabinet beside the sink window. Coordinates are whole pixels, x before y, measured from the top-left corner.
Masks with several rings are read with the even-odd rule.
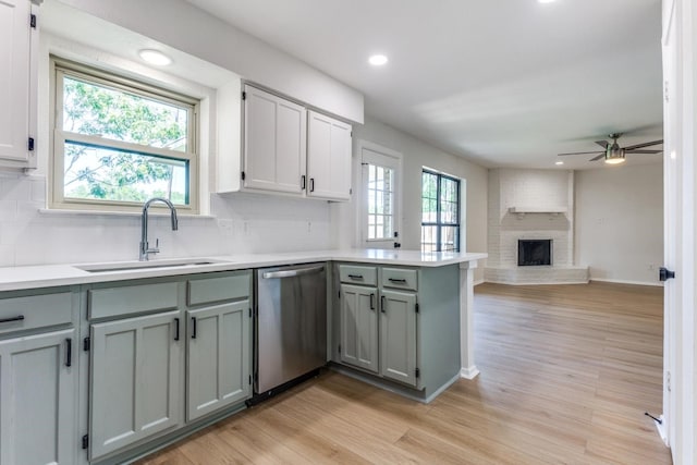
[[[351,198],[351,125],[308,112],[307,195],[331,200]]]

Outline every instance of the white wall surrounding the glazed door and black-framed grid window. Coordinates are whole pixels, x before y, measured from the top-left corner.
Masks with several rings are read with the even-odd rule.
[[[466,180],[466,252],[487,250],[487,169],[472,163],[462,157],[447,154],[417,138],[366,115],[363,126],[353,130],[354,166],[356,164],[356,144],[358,139],[368,140],[403,155],[403,223],[402,248],[419,249],[421,243],[421,169],[432,168]],[[353,189],[357,192],[360,179],[354,169]],[[355,196],[354,196],[355,197]],[[332,236],[335,246],[356,246],[354,203],[332,206]],[[477,270],[475,280],[484,277],[482,268]]]

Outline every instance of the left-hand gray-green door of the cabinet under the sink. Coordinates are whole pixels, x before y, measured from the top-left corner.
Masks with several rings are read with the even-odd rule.
[[[91,460],[180,423],[179,316],[168,311],[91,326]]]

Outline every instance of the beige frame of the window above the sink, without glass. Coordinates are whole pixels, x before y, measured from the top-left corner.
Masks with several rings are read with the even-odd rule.
[[[99,136],[63,131],[63,77],[75,77],[87,83],[94,83],[114,90],[124,91],[137,97],[145,97],[163,103],[174,105],[187,110],[186,150],[176,151],[166,148],[102,138]],[[142,211],[143,203],[109,199],[72,198],[64,195],[64,146],[74,142],[81,145],[91,145],[114,151],[126,151],[142,156],[154,156],[161,160],[176,160],[188,163],[188,204],[175,205],[176,210],[184,215],[198,215],[199,203],[199,117],[200,99],[188,97],[167,88],[148,84],[142,78],[126,77],[118,72],[99,70],[76,63],[59,57],[50,57],[50,148],[49,148],[49,203],[50,209],[61,210],[93,210],[93,211]],[[154,205],[154,208],[163,208]]]

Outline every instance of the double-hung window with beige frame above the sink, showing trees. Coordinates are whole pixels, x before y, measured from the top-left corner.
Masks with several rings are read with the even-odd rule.
[[[151,197],[198,212],[199,101],[51,60],[51,207],[132,210]]]

